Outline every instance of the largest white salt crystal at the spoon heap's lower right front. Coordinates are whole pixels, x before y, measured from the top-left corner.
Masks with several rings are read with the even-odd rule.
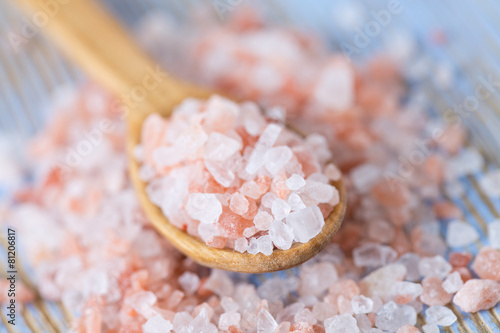
[[[307,243],[321,232],[325,220],[319,207],[311,206],[288,214],[286,224],[293,229],[295,241]]]

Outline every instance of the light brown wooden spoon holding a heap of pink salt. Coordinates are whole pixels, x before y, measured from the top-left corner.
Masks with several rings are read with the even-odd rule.
[[[90,0],[54,0],[52,8],[44,0],[18,0],[30,14],[49,17],[41,30],[81,66],[93,79],[122,97],[128,123],[127,151],[130,177],[147,217],[179,251],[198,263],[229,271],[263,273],[294,267],[320,252],[339,229],[345,213],[346,194],[342,181],[333,183],[340,203],[326,218],[320,234],[308,243],[296,243],[289,250],[274,250],[269,256],[252,255],[230,249],[215,249],[174,227],[161,209],[150,202],[146,183],[138,176],[139,163],[133,148],[139,144],[142,123],[157,112],[169,116],[187,97],[208,98],[212,91],[181,82],[162,72],[128,34],[99,5]],[[31,17],[31,16],[30,16]]]

